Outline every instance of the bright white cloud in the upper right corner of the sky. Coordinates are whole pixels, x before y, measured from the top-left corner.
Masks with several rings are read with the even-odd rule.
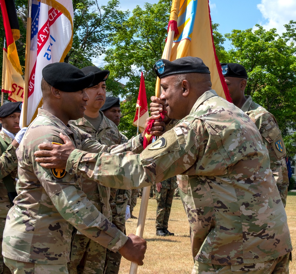
[[[267,23],[260,25],[266,30],[276,28],[280,35],[286,31],[284,24],[288,24],[290,20],[296,21],[295,0],[261,0],[257,8],[267,20]]]

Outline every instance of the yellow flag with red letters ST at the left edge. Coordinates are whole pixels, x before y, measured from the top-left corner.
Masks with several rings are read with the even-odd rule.
[[[22,101],[24,94],[24,79],[8,60],[7,49],[3,49],[2,92],[9,93],[12,102]]]

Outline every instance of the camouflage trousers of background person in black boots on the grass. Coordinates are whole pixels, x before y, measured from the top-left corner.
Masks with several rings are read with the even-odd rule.
[[[155,199],[157,201],[156,209],[156,228],[168,228],[168,219],[170,217],[170,209],[172,207],[175,189],[160,188],[160,192],[155,191]]]

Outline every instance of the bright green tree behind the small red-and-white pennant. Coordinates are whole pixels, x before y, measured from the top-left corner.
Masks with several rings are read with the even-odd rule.
[[[161,58],[165,45],[170,5],[170,0],[160,0],[157,4],[146,3],[144,9],[137,6],[133,15],[123,22],[123,28],[114,33],[111,48],[106,51],[104,60],[108,63],[106,68],[110,69],[110,75],[117,81],[126,79],[124,90],[113,90],[113,94],[127,99],[122,105],[119,128],[128,137],[136,134],[132,122],[140,85],[139,68],[142,65],[147,98],[155,94],[153,65]]]

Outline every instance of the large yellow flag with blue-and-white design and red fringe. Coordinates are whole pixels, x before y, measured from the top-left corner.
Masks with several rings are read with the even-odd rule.
[[[176,22],[178,31],[175,31],[170,61],[185,56],[200,57],[210,69],[212,88],[232,102],[216,55],[209,1],[173,0],[168,29],[175,30]]]

